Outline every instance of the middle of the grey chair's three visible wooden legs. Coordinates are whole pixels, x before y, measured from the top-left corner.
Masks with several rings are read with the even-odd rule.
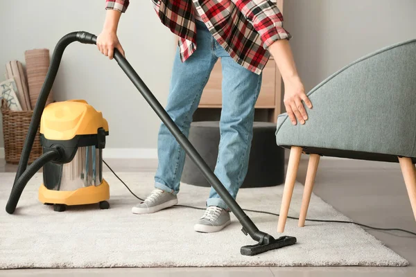
[[[312,189],[315,181],[316,171],[318,170],[319,160],[320,155],[318,154],[311,154],[311,157],[309,157],[304,194],[302,197],[302,207],[300,208],[299,222],[297,223],[297,226],[300,227],[305,226],[306,213],[308,213],[309,202],[311,201]]]

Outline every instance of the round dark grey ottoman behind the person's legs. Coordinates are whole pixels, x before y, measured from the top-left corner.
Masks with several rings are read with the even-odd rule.
[[[284,149],[276,144],[275,132],[275,123],[254,122],[248,172],[241,188],[277,186],[284,183]],[[214,171],[220,143],[219,122],[191,123],[189,141]],[[181,181],[194,186],[211,186],[188,156],[185,158]]]

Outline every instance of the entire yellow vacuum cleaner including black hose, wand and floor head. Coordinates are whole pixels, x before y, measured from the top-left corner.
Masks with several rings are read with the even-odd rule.
[[[49,104],[46,100],[58,73],[58,67],[65,48],[72,42],[96,44],[96,35],[87,32],[73,32],[60,39],[53,51],[49,71],[33,110],[31,125],[21,151],[15,183],[6,204],[6,211],[15,212],[17,202],[28,181],[42,167],[44,184],[40,186],[39,198],[45,204],[55,204],[55,211],[63,211],[65,205],[100,203],[108,208],[105,201],[110,197],[108,184],[102,176],[102,150],[108,134],[107,121],[84,100],[71,100]],[[256,255],[272,249],[296,243],[296,238],[281,236],[273,238],[257,229],[236,200],[214,175],[207,163],[200,157],[187,137],[180,131],[172,118],[146,87],[125,57],[114,48],[114,60],[130,78],[135,87],[148,102],[157,116],[168,127],[191,160],[207,178],[218,195],[225,201],[232,213],[243,226],[243,233],[257,241],[257,244],[241,247],[242,255]],[[42,119],[42,122],[41,122]],[[37,129],[40,126],[43,154],[28,166],[29,155]]]

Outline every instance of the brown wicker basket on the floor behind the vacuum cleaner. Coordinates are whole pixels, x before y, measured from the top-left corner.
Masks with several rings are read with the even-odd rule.
[[[33,111],[12,111],[6,105],[6,101],[2,99],[1,114],[3,115],[3,139],[6,163],[17,164],[19,163],[21,150],[26,135],[28,134]],[[37,129],[28,163],[33,163],[42,154],[39,131],[40,128]]]

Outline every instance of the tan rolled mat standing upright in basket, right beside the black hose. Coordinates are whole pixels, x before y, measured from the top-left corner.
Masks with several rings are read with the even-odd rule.
[[[29,95],[31,96],[31,106],[34,108],[40,89],[44,84],[46,73],[49,69],[49,49],[32,49],[24,52],[26,60],[26,75],[28,78]],[[46,105],[53,102],[53,91],[49,93]]]

